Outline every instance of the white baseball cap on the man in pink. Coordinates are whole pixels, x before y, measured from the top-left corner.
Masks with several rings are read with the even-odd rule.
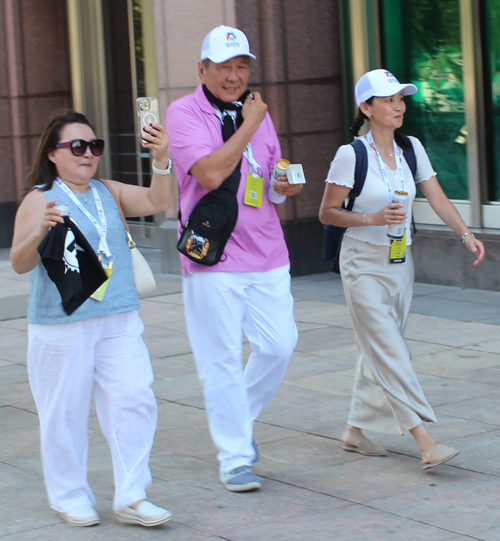
[[[250,52],[248,39],[241,30],[221,25],[205,36],[201,46],[202,61],[208,58],[212,62],[220,64],[235,56],[255,58]]]

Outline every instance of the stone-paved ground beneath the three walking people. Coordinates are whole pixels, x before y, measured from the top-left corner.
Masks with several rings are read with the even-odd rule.
[[[262,489],[233,494],[218,481],[179,279],[161,275],[158,253],[147,252],[159,278],[141,308],[159,405],[149,496],[174,520],[149,530],[117,522],[95,411],[89,481],[102,523],[70,527],[49,509],[25,366],[28,280],[0,250],[1,539],[500,540],[500,293],[416,285],[406,336],[439,420],[430,430],[460,450],[424,473],[409,435],[369,434],[390,451],[383,458],[342,451],[357,348],[341,283],[331,274],[294,278],[299,343],[255,426]]]

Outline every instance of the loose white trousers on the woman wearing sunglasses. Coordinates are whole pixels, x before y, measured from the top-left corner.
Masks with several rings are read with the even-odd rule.
[[[146,498],[157,421],[153,372],[137,312],[28,327],[28,375],[40,418],[50,506],[95,505],[87,482],[92,389],[113,460],[116,510]]]

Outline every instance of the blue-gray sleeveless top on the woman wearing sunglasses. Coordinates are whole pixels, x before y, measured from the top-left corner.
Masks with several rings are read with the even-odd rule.
[[[61,296],[54,282],[47,275],[41,261],[31,271],[30,298],[28,302],[28,323],[69,323],[93,317],[105,317],[120,312],[138,310],[139,298],[134,285],[134,275],[130,259],[130,248],[121,219],[118,205],[111,192],[102,182],[93,181],[101,196],[102,205],[108,223],[106,239],[113,260],[113,274],[109,280],[104,299],[87,299],[70,316],[62,308]],[[59,186],[54,184],[46,192],[47,201],[55,199],[57,203],[69,205],[71,218],[97,252],[99,235],[92,222],[78,209],[73,201]],[[92,190],[75,194],[82,205],[99,220]]]

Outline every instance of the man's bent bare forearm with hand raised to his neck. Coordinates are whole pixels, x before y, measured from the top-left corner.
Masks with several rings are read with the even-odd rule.
[[[215,190],[234,171],[266,113],[267,105],[259,92],[253,94],[253,101],[250,96],[247,97],[242,109],[243,124],[220,148],[191,167],[190,173],[205,189]]]

